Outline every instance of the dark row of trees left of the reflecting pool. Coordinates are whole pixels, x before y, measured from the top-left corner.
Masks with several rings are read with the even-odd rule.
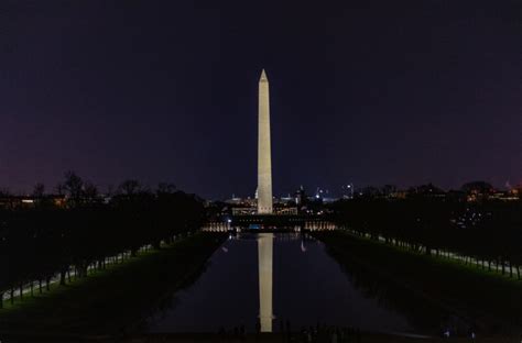
[[[59,185],[65,206],[56,206],[34,191],[32,208],[0,209],[0,308],[6,292],[12,295],[30,283],[33,294],[86,277],[88,267],[105,268],[109,256],[124,252],[133,256],[142,246],[160,248],[177,235],[200,228],[205,220],[203,200],[160,184],[152,191],[137,180],[123,181],[110,198],[73,172]]]

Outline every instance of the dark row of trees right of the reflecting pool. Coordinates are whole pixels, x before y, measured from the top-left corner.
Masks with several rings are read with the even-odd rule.
[[[521,279],[522,200],[463,201],[417,193],[334,203],[337,223],[355,234]]]

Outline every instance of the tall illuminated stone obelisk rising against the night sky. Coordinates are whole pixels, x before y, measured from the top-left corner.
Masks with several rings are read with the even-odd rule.
[[[272,152],[270,147],[270,93],[264,69],[259,79],[258,107],[258,213],[272,213]]]

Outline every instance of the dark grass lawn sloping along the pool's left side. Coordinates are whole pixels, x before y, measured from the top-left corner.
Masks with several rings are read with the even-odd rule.
[[[0,335],[19,333],[104,334],[143,329],[143,318],[189,284],[224,242],[198,233],[132,257],[66,286],[25,296],[0,310]]]

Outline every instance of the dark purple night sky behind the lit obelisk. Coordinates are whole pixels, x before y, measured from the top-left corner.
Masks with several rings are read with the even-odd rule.
[[[0,2],[0,187],[522,181],[522,2]]]

